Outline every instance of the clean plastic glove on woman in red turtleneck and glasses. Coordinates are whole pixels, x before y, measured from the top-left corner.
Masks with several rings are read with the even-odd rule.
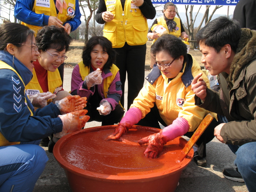
[[[33,99],[32,101],[30,100],[32,105],[37,108],[45,107],[47,105],[47,100],[53,99],[55,97],[57,96],[49,91],[47,93],[37,93],[34,95],[29,95],[29,99]]]

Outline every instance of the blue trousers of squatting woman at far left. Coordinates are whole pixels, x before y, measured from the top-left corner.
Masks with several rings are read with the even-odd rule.
[[[40,140],[0,147],[0,191],[32,192],[48,157]]]

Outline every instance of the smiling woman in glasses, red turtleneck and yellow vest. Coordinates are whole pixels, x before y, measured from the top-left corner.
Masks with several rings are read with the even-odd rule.
[[[26,94],[54,93],[57,97],[48,99],[48,103],[59,101],[70,95],[62,88],[62,81],[58,67],[67,56],[69,44],[72,38],[63,28],[57,26],[45,26],[38,31],[35,37],[39,55],[33,62],[33,78],[26,85]],[[40,146],[48,146],[49,138],[46,137],[40,142]]]

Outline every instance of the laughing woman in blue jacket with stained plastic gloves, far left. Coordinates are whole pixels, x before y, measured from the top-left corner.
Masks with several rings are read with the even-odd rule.
[[[50,103],[34,111],[25,86],[33,76],[38,55],[34,31],[29,27],[19,23],[0,27],[1,192],[32,192],[48,161],[45,150],[38,146],[40,140],[52,133],[76,131],[88,120],[83,110],[86,100],[78,95],[62,100],[68,105]]]

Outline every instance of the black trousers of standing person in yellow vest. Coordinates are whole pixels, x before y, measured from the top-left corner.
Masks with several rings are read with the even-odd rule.
[[[120,80],[122,83],[123,95],[121,104],[124,106],[124,87],[127,73],[128,97],[127,109],[130,108],[133,100],[138,96],[144,84],[146,44],[131,46],[125,42],[121,48],[114,48],[117,52],[116,66],[119,68]]]

